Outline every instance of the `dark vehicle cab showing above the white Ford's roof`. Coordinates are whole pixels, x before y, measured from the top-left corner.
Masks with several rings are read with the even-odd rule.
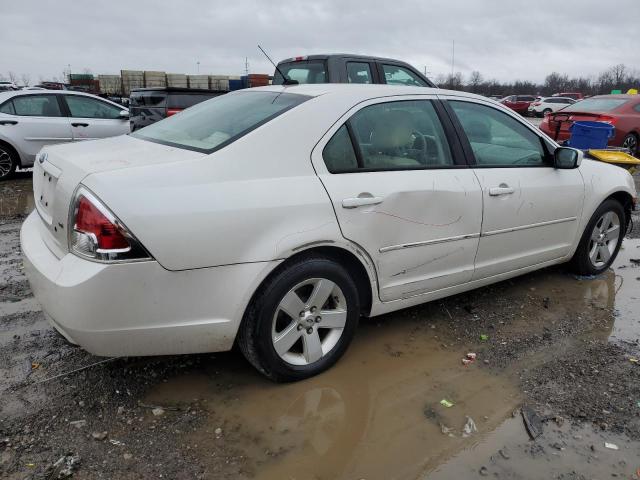
[[[278,63],[278,69],[298,83],[388,83],[416,87],[435,85],[411,65],[392,58],[335,53],[293,57]],[[282,85],[276,70],[273,84]]]

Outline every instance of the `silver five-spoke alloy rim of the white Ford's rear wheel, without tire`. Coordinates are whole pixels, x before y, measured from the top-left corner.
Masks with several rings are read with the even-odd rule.
[[[273,316],[271,340],[291,365],[310,365],[338,344],[347,322],[347,301],[326,278],[298,283],[280,300]]]

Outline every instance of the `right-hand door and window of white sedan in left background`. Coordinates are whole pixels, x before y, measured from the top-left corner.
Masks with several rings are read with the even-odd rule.
[[[73,140],[95,140],[129,133],[129,118],[121,117],[126,108],[84,95],[63,95],[69,109]]]

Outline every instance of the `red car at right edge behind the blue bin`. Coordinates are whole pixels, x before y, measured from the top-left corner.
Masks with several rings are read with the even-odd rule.
[[[615,127],[611,147],[624,147],[638,156],[640,95],[598,95],[569,105],[544,117],[540,129],[558,142],[569,139],[575,121],[606,122]],[[560,129],[558,130],[558,123]],[[556,138],[556,132],[558,136]]]

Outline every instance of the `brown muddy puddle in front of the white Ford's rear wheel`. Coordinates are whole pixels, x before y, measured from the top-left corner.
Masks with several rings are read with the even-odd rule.
[[[219,380],[189,376],[160,385],[148,401],[208,399],[225,431],[241,426],[237,443],[259,459],[254,478],[417,478],[464,446],[466,416],[492,431],[520,395],[505,378],[464,367],[466,352],[444,349],[410,323],[364,325],[338,365],[304,382],[276,385],[239,372],[225,393]],[[443,435],[443,426],[455,436]],[[212,441],[198,435],[198,444]]]

